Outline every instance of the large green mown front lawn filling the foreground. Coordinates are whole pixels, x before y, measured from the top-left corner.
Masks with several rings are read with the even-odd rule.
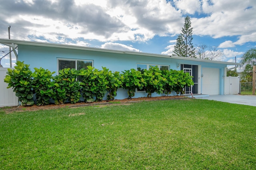
[[[6,114],[0,169],[256,169],[256,107],[165,100]]]

